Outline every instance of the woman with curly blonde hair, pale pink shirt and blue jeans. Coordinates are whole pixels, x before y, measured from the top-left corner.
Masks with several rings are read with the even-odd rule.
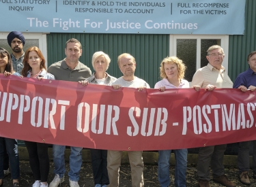
[[[160,65],[162,80],[156,83],[155,88],[165,91],[166,88],[189,88],[188,81],[184,80],[186,66],[176,56],[164,58]],[[175,187],[186,186],[186,166],[188,149],[173,150],[175,154]],[[162,187],[170,185],[169,160],[171,150],[158,151],[158,180]]]

